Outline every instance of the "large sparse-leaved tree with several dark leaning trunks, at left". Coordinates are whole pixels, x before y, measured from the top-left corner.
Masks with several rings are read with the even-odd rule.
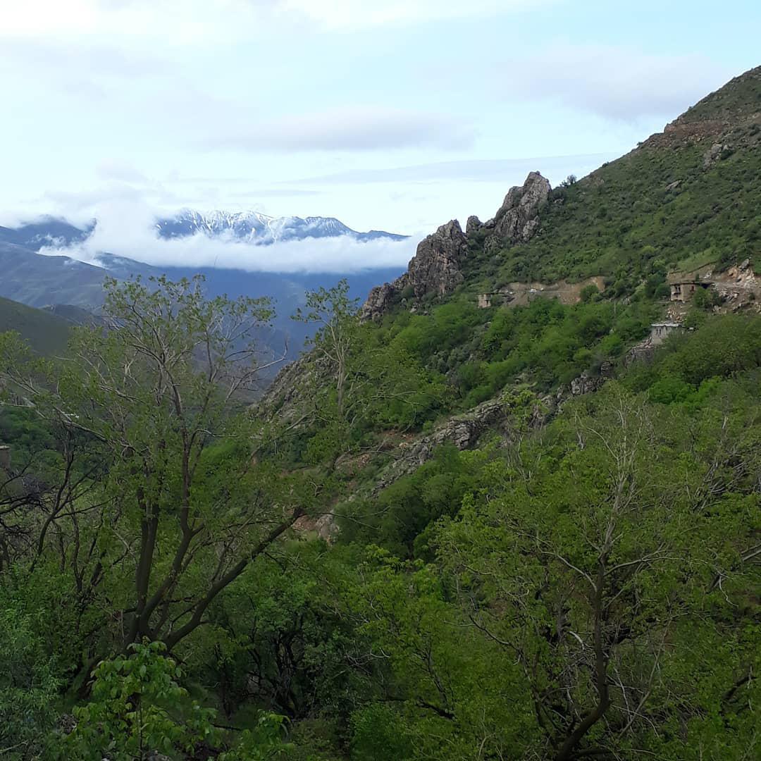
[[[75,330],[62,361],[17,351],[0,367],[8,389],[103,463],[97,498],[49,514],[64,567],[71,544],[87,546],[81,562],[108,587],[123,647],[174,648],[314,493],[251,456],[245,400],[264,369],[254,339],[272,314],[266,300],[209,301],[200,278],[109,280],[103,314],[105,326]],[[56,552],[44,530],[37,544]]]

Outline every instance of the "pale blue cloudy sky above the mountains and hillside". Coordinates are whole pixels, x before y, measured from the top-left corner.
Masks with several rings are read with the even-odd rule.
[[[166,261],[188,252],[151,221],[181,208],[334,216],[412,235],[356,253],[403,264],[530,170],[631,150],[761,64],[759,35],[751,0],[0,0],[0,224],[98,218]],[[231,256],[355,256],[292,249]]]

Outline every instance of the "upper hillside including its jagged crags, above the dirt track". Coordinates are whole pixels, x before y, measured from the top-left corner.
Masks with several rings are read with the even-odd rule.
[[[673,270],[745,259],[761,272],[761,67],[582,180],[551,189],[532,172],[486,224],[469,218],[464,236],[457,221],[439,228],[405,275],[374,288],[363,316],[402,299],[600,276],[607,296],[622,297]]]

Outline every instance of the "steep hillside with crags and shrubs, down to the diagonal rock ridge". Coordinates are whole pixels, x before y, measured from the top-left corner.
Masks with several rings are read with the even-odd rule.
[[[700,266],[716,287],[672,314],[670,273]],[[457,220],[442,225],[403,275],[371,291],[358,384],[373,362],[393,367],[400,357],[420,379],[417,388],[384,381],[398,396],[418,396],[401,416],[403,434],[383,415],[366,423],[377,436],[372,489],[414,470],[439,444],[475,446],[505,419],[507,399],[528,393],[530,425],[541,425],[568,397],[651,356],[661,329],[684,333],[679,320],[694,327],[712,311],[737,310],[758,319],[754,268],[761,272],[761,68],[582,180],[552,189],[531,172],[494,218],[471,217],[464,232]],[[748,298],[735,298],[740,280]],[[666,328],[653,327],[664,320]],[[265,406],[297,420],[335,380],[329,365],[305,356],[275,380]]]

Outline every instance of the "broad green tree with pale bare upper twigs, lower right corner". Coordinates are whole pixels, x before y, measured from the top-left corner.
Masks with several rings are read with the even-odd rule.
[[[758,444],[743,431],[737,412],[689,425],[608,384],[487,468],[442,527],[440,561],[472,626],[524,670],[543,757],[683,757],[716,742],[711,722],[742,728],[737,756],[721,757],[752,746],[728,702],[756,659],[753,627],[726,624],[754,588]],[[712,648],[722,657],[707,668]],[[651,733],[670,724],[688,739]]]

